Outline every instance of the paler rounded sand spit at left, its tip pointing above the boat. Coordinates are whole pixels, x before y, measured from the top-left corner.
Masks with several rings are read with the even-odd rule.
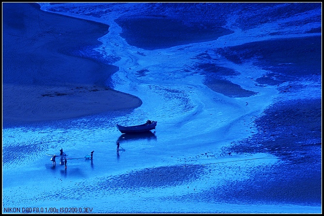
[[[100,86],[39,86],[4,84],[2,117],[7,122],[33,122],[132,109],[142,101]]]

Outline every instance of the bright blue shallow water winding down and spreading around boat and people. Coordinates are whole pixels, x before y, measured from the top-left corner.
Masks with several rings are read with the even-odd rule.
[[[309,93],[314,98],[321,97],[318,77],[303,76],[305,80],[290,77],[293,78],[290,84],[298,83],[299,88],[293,88],[285,96],[280,90],[286,83],[277,86],[269,84],[272,82],[256,82],[269,70],[253,64],[255,59],[233,62],[216,51],[220,47],[275,38],[271,33],[278,31],[278,23],[283,20],[293,23],[301,17],[274,19],[260,28],[245,29],[243,35],[240,29],[232,28],[234,33],[218,35],[213,41],[195,40],[185,45],[145,50],[127,44],[119,35],[121,28],[113,21],[131,15],[131,10],[125,11],[133,6],[43,5],[43,9],[52,8],[58,13],[69,12],[70,16],[108,24],[110,32],[99,39],[103,44],[96,50],[103,58],[118,56],[119,61],[114,65],[119,71],[113,74],[111,84],[118,91],[139,97],[143,104],[132,112],[4,128],[3,206],[52,207],[54,212],[61,211],[61,207],[76,207],[78,211],[81,208],[83,212],[83,208],[91,207],[94,213],[321,212],[317,199],[306,204],[302,198],[287,200],[289,193],[271,186],[268,191],[273,197],[265,196],[259,189],[267,182],[276,185],[271,175],[275,172],[273,167],[286,166],[279,157],[269,152],[229,154],[222,149],[233,143],[239,145],[241,140],[259,133],[254,120],[275,100],[303,100]],[[106,13],[107,10],[111,13]],[[143,6],[137,10],[146,11]],[[309,12],[308,17],[316,16],[320,16],[318,10]],[[296,28],[309,30],[319,25],[312,23],[312,27],[305,24]],[[263,28],[270,33],[264,35]],[[289,28],[280,27],[280,30],[286,32],[285,37],[296,36]],[[304,34],[308,35],[301,35]],[[257,44],[263,49],[263,43]],[[258,50],[254,51],[258,55]],[[241,86],[241,91],[234,89],[236,97],[228,97],[233,92],[232,85],[216,92],[204,84],[208,75],[199,65],[206,63],[237,72],[219,75]],[[246,91],[256,94],[247,97]],[[123,137],[115,127],[117,123],[142,124],[147,119],[158,121],[153,135]],[[116,141],[125,151],[117,154]],[[68,154],[67,169],[58,160],[52,166],[45,154],[61,148]],[[83,158],[92,150],[95,150],[93,161]],[[266,177],[252,181],[257,174]],[[289,174],[280,173],[283,179],[286,175]],[[254,190],[258,191],[257,197],[253,197]]]

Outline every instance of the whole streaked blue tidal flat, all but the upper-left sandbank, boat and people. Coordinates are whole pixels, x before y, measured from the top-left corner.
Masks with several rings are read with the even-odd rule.
[[[3,128],[3,208],[321,213],[320,3],[40,5],[108,25],[75,53],[110,70],[86,81],[143,104]],[[147,119],[152,133],[115,127]],[[67,169],[46,155],[61,148]]]

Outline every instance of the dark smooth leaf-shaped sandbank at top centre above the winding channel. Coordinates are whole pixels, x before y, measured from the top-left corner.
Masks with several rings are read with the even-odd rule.
[[[185,25],[176,19],[165,17],[118,18],[115,21],[122,27],[123,32],[120,35],[126,38],[128,44],[146,50],[211,41],[233,33],[223,27]]]

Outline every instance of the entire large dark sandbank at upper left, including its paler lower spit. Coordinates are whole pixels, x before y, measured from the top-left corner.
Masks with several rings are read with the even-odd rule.
[[[74,118],[142,104],[107,87],[118,67],[79,53],[99,45],[108,25],[44,12],[36,3],[3,3],[3,13],[4,122]]]

